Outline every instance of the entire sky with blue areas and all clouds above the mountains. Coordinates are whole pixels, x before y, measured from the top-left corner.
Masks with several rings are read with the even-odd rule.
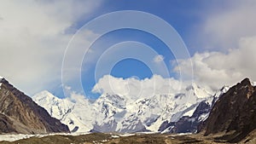
[[[253,0],[0,0],[0,75],[92,99],[256,81],[254,14]]]

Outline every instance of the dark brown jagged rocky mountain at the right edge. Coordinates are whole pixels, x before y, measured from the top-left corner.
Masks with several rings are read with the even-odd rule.
[[[256,87],[245,78],[220,96],[202,126],[205,135],[225,132],[224,139],[241,141],[256,128]]]

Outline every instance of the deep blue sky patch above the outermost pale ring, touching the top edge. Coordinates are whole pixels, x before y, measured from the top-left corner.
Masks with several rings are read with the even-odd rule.
[[[218,2],[214,2],[218,3]],[[118,10],[139,10],[148,12],[159,16],[161,19],[166,20],[172,25],[177,32],[183,37],[184,41],[189,42],[191,31],[204,19],[203,14],[207,13],[210,9],[220,9],[224,7],[224,3],[215,4],[212,1],[168,1],[162,0],[160,2],[155,0],[142,0],[136,3],[126,3],[125,1],[104,1],[101,7],[90,15],[90,19],[85,18],[74,24],[75,28],[84,26],[89,20]],[[191,43],[192,44],[192,43]],[[195,44],[195,43],[193,43]],[[196,46],[194,46],[196,47]],[[198,49],[189,49],[194,53]]]

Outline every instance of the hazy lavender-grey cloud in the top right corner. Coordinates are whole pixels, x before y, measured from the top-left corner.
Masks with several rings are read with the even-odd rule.
[[[207,49],[236,48],[241,37],[253,37],[256,34],[256,1],[230,1],[225,9],[213,9],[205,13],[205,21],[199,25],[202,31],[199,40]],[[193,39],[194,39],[193,38]]]

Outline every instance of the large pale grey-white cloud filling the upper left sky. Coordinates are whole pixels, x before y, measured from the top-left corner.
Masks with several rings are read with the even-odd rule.
[[[61,82],[69,29],[100,1],[1,1],[0,75],[32,95]]]

